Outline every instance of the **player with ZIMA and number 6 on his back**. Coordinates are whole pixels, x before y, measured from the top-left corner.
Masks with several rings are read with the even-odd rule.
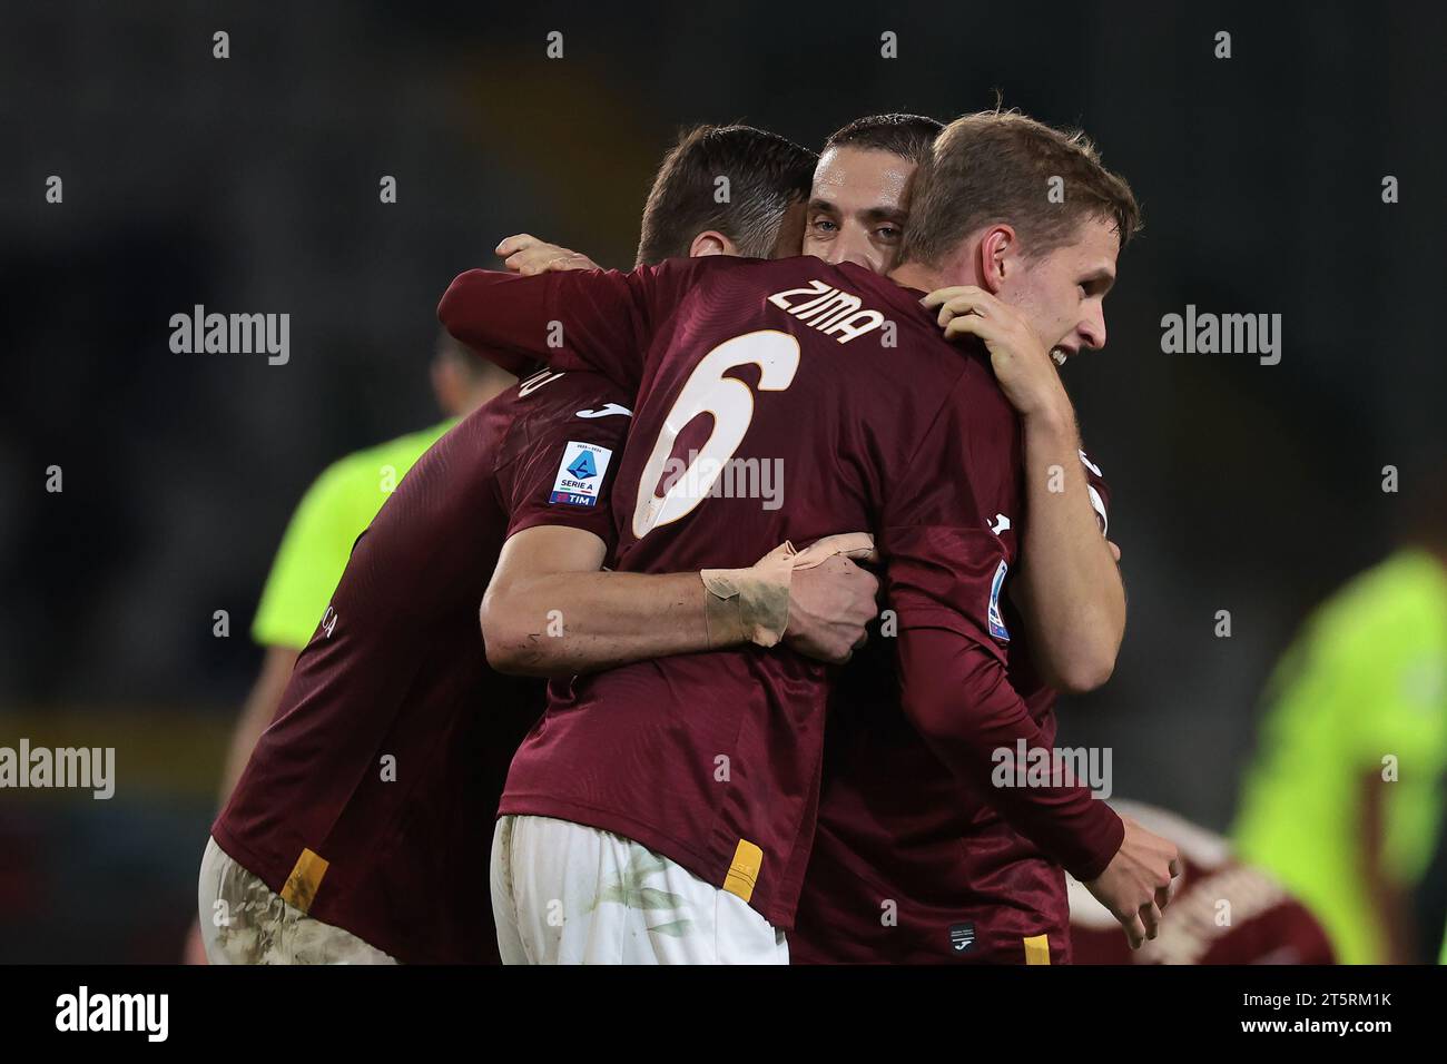
[[[948,332],[980,334],[996,365],[1024,358],[1024,326],[1048,340],[1033,337],[1037,359],[1049,347],[1094,346],[1133,201],[1113,198],[1123,184],[1056,135],[1065,158],[1051,162],[1095,193],[1085,210],[1055,229],[1024,216],[1019,229],[985,224],[954,193],[968,187],[980,126],[988,132],[991,122],[1026,120],[977,116],[946,130],[915,204],[916,258],[894,278],[1009,290],[1027,317],[978,285],[951,295],[941,314]],[[1020,443],[984,355],[942,345],[917,295],[851,265],[710,261],[631,275],[473,271],[454,281],[440,313],[454,336],[492,346],[505,363],[547,355],[641,385],[615,494],[621,569],[673,567],[705,543],[742,553],[780,530],[809,539],[825,521],[875,530],[899,617],[906,711],[936,754],[980,788],[993,750],[1040,738],[1004,677],[1000,589],[1017,547],[1009,515],[1022,512]],[[563,323],[560,349],[543,347],[544,321]],[[1103,339],[1103,324],[1098,332]],[[896,342],[897,353],[881,355]],[[629,355],[640,349],[648,352],[641,373]],[[710,417],[695,433],[700,446],[664,482],[702,413]],[[719,473],[735,460],[793,470],[787,507],[718,498]],[[941,476],[955,482],[942,486]],[[781,958],[818,799],[823,680],[787,654],[742,651],[650,662],[554,689],[514,760],[493,847],[499,934],[512,932],[515,955]],[[1068,783],[991,801],[1123,922],[1139,929],[1158,919],[1174,864],[1163,840],[1123,825]],[[629,899],[650,890],[670,899],[655,913],[667,919],[631,919]]]

